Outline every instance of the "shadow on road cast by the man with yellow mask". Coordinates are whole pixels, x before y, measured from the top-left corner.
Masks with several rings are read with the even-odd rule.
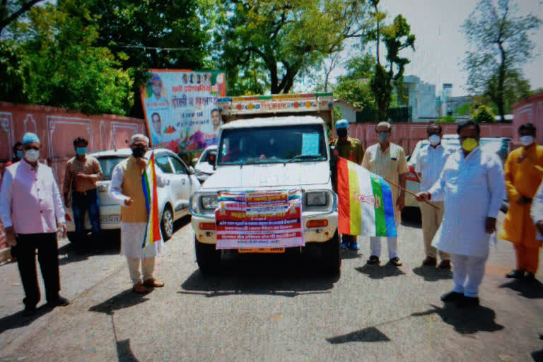
[[[474,309],[459,309],[454,305],[445,304],[443,308],[431,305],[433,309],[425,312],[413,313],[414,317],[437,314],[443,322],[455,327],[460,334],[474,334],[479,331],[496,332],[503,329],[503,325],[495,322],[496,313],[490,308],[480,305]]]

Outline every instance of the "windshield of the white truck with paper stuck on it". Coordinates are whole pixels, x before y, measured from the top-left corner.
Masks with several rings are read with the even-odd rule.
[[[327,160],[324,128],[319,124],[224,129],[218,149],[218,165]]]

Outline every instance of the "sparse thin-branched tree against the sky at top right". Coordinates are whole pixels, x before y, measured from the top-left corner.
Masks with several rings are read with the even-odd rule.
[[[512,1],[498,0],[494,4],[492,0],[479,0],[462,25],[474,49],[466,52],[464,59],[467,88],[471,93],[486,95],[496,105],[502,122],[508,103],[512,103],[508,97],[518,98],[515,84],[522,89],[527,85],[520,67],[532,58],[535,45],[529,35],[541,25],[536,16],[516,13]]]

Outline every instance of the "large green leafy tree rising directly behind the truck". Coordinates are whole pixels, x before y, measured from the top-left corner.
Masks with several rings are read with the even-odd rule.
[[[221,16],[214,34],[214,57],[228,71],[230,84],[247,78],[247,64],[261,62],[266,69],[264,83],[269,83],[271,93],[288,93],[300,69],[338,52],[345,39],[363,35],[364,3],[224,1],[218,4]]]

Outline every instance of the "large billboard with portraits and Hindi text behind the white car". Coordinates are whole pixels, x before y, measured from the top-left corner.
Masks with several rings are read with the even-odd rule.
[[[151,145],[175,153],[218,143],[218,98],[226,95],[221,71],[151,69],[141,102]]]

